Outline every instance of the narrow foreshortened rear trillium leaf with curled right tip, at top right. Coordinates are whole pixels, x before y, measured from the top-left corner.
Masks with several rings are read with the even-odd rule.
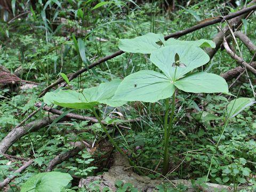
[[[213,41],[206,40],[206,39],[199,39],[197,41],[180,41],[175,38],[169,38],[165,42],[165,46],[168,46],[168,45],[195,45],[195,46],[199,46],[199,47],[212,47],[212,48],[216,47],[216,45]]]

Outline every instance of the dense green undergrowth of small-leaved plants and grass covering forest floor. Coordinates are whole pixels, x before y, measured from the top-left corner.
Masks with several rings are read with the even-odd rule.
[[[46,86],[55,82],[60,77],[60,73],[73,73],[99,58],[118,51],[119,39],[131,39],[149,32],[167,35],[196,25],[198,17],[205,19],[222,13],[229,14],[242,7],[242,5],[234,8],[227,6],[224,9],[218,4],[221,9],[216,10],[214,6],[217,6],[219,1],[214,1],[215,3],[213,1],[204,1],[204,3],[193,1],[189,6],[182,4],[175,7],[175,12],[166,12],[161,6],[162,1],[138,4],[140,8],[131,3],[132,1],[122,1],[123,4],[122,2],[118,4],[120,2],[116,1],[117,4],[106,4],[90,12],[92,7],[97,4],[94,1],[90,1],[89,4],[86,4],[86,1],[79,1],[80,4],[75,4],[74,1],[59,1],[62,9],[54,1],[47,2],[50,3],[48,4],[49,7],[45,8],[46,18],[43,14],[43,3],[46,1],[43,1],[42,4],[36,3],[34,8],[30,7],[29,1],[23,1],[23,5],[17,3],[19,8],[17,8],[15,15],[25,11],[31,11],[31,14],[25,14],[20,17],[20,20],[11,23],[5,22],[3,18],[3,22],[0,22],[0,27],[2,27],[0,31],[0,65],[8,68],[12,73],[15,73],[18,67],[22,67],[23,70],[19,75],[21,79],[39,83],[37,87],[26,90],[17,88],[20,84],[1,86],[0,140],[36,109],[34,103],[43,101],[42,98],[37,98],[39,93]],[[81,19],[81,15],[79,16],[82,14],[78,13],[77,10],[79,9],[85,11],[84,20]],[[61,15],[62,18],[66,19],[64,23],[60,23],[58,20]],[[255,16],[245,20],[245,25],[242,26],[241,31],[246,33],[253,43],[256,43],[254,22]],[[223,27],[226,23],[218,23],[218,25]],[[216,26],[199,29],[180,37],[179,40],[212,39],[218,33]],[[78,33],[78,29],[82,30],[84,35]],[[83,61],[77,53],[73,34],[77,41],[81,38],[84,42],[86,61]],[[99,41],[98,38],[107,41]],[[238,45],[244,60],[249,62],[252,54],[242,42],[238,41]],[[129,59],[129,57],[131,58]],[[127,65],[128,62],[129,65]],[[219,50],[209,63],[195,70],[220,75],[235,66],[238,66],[235,60],[232,60],[225,50]],[[86,89],[111,81],[114,78],[122,79],[143,69],[160,71],[150,61],[149,54],[134,53],[131,55],[131,53],[124,53],[83,73],[70,82],[70,87],[74,90]],[[253,79],[254,76],[250,73],[249,75]],[[230,85],[231,82],[228,84]],[[253,84],[255,84],[254,81]],[[239,97],[253,97],[251,86],[246,78],[243,81],[237,81],[229,89],[229,92]],[[169,140],[170,163],[169,174],[167,174],[169,179],[191,179],[194,183],[201,185],[206,180],[212,162],[207,178],[208,182],[223,185],[233,183],[235,188],[247,185],[251,191],[255,190],[255,106],[245,109],[231,119],[223,132],[218,148],[215,147],[225,122],[223,119],[211,119],[210,116],[228,116],[226,106],[230,100],[231,98],[223,94],[179,92],[175,99],[175,114],[178,116]],[[70,110],[62,107],[55,108],[63,111]],[[118,114],[110,113],[113,109],[100,104],[97,112],[104,116],[106,121],[111,121],[108,116],[120,117]],[[163,100],[155,103],[127,102],[126,105],[118,107],[117,111],[121,111],[124,119],[139,118],[140,121],[125,124],[126,127],[131,128],[129,130],[114,126],[109,131],[118,146],[127,151],[136,165],[159,173],[163,169],[160,162],[164,155],[163,122],[165,110],[166,106]],[[87,109],[73,109],[70,112],[94,116]],[[40,110],[26,123],[47,116],[49,114]],[[33,175],[45,172],[52,158],[73,149],[74,142],[82,140],[95,142],[94,146],[97,146],[101,142],[105,142],[107,137],[99,124],[75,119],[46,126],[22,137],[6,153],[23,158],[34,158],[35,161],[32,166],[18,174],[19,177],[10,183],[9,191],[18,191],[20,186]],[[69,173],[78,178],[100,174],[107,171],[108,168],[100,167],[99,159],[103,155],[101,153],[96,150],[94,156],[90,157],[86,151],[82,151],[78,156],[59,164],[53,171]],[[3,155],[0,157],[0,171],[2,173],[0,174],[0,181],[3,181],[10,174],[10,169],[17,169],[17,165],[14,163],[9,165],[9,160]],[[94,158],[94,161],[91,158]],[[21,166],[21,162],[18,164]],[[94,167],[97,167],[98,170]],[[155,172],[142,171],[152,179],[162,178],[160,174]],[[248,183],[254,184],[254,186],[248,185]],[[124,188],[123,186],[121,183],[119,191],[132,191],[130,190],[132,187],[121,190]],[[127,186],[129,188],[129,185]],[[77,190],[71,189],[72,187],[74,186],[69,184],[65,190]],[[166,191],[170,187],[158,186],[158,189],[159,191]],[[82,189],[79,190],[82,191]],[[175,190],[177,189],[171,190],[170,188],[170,191]],[[181,186],[179,191],[182,190],[186,191],[186,188]]]

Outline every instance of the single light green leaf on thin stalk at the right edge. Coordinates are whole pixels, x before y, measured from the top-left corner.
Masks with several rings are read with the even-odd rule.
[[[254,98],[238,98],[229,102],[227,106],[228,115],[230,118],[238,115],[242,110],[247,107],[250,107],[255,103]]]

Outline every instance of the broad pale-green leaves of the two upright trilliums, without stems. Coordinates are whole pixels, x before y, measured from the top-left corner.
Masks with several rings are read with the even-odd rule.
[[[157,38],[160,36],[150,33],[145,36],[136,37],[130,41],[128,39],[121,41],[121,49],[124,51],[130,50],[132,52],[151,53],[150,60],[163,71],[164,75],[151,70],[141,70],[133,73],[125,77],[118,86],[113,100],[156,102],[160,99],[171,97],[175,91],[175,87],[182,91],[193,93],[228,92],[225,79],[218,75],[201,72],[184,76],[189,71],[209,61],[209,56],[202,49],[193,45],[201,45],[203,44],[202,41],[199,41],[199,44],[187,42],[187,44],[171,43],[170,45],[167,44],[167,41],[164,47],[150,48],[150,46],[154,46],[153,43],[156,44]],[[161,37],[163,38],[163,35]],[[144,43],[137,44],[135,42]],[[143,48],[139,49],[139,45]],[[165,45],[164,42],[163,45]],[[174,55],[177,53],[180,61],[187,66],[186,68],[171,66],[175,62]],[[214,85],[212,82],[214,82]]]

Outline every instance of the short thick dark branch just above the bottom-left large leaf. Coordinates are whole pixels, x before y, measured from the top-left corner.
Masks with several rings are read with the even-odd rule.
[[[77,155],[79,153],[79,151],[83,150],[85,148],[84,143],[81,143],[81,145],[77,146],[74,149],[69,150],[67,153],[65,154],[61,154],[61,155],[57,155],[56,157],[54,157],[52,159],[52,161],[49,163],[49,165],[47,166],[46,172],[52,171],[52,169],[62,163],[63,161],[66,161],[67,159],[74,157],[75,155]]]

